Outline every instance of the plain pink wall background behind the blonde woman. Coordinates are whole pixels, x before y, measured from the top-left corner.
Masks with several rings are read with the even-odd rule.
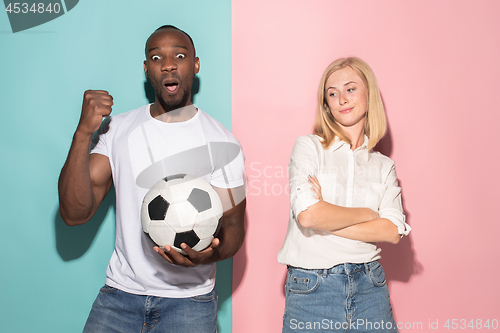
[[[500,320],[500,2],[235,0],[232,10],[233,132],[249,185],[233,332],[281,331],[288,158],[311,132],[323,70],[348,55],[377,75],[389,120],[379,149],[396,161],[413,227],[382,252],[396,321],[414,325],[400,331]]]

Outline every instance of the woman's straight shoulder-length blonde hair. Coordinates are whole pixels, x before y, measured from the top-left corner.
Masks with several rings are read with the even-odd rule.
[[[325,99],[326,81],[333,72],[351,67],[363,80],[368,89],[368,110],[366,112],[365,134],[369,138],[368,149],[372,149],[382,139],[387,130],[384,104],[380,96],[377,79],[366,62],[356,57],[341,58],[332,62],[324,71],[318,89],[318,108],[314,122],[314,134],[320,136],[323,148],[328,148],[335,137],[351,144],[330,112]]]

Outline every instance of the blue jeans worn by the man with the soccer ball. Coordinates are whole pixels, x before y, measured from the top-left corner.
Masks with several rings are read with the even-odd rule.
[[[217,293],[189,298],[134,295],[104,286],[92,305],[84,333],[217,332]]]

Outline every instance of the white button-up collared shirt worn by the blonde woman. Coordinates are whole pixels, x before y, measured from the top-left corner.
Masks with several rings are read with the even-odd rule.
[[[278,261],[307,269],[331,268],[342,263],[365,263],[380,258],[375,244],[304,228],[297,222],[300,212],[318,202],[307,177],[316,176],[326,202],[343,207],[367,207],[391,220],[401,235],[410,232],[405,222],[394,161],[368,151],[368,137],[352,151],[338,138],[324,149],[316,135],[295,142],[288,165],[290,214],[288,230]]]

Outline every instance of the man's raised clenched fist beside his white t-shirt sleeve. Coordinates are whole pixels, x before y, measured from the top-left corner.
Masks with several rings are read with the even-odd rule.
[[[105,90],[87,90],[83,94],[82,114],[77,132],[92,135],[99,129],[102,118],[111,114],[113,97]]]

